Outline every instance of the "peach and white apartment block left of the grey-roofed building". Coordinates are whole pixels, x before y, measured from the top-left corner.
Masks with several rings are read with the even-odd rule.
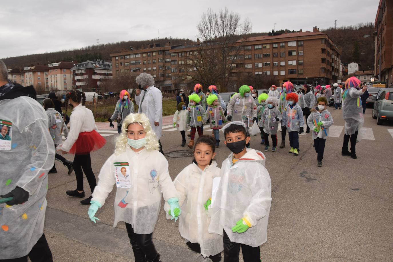
[[[72,89],[73,75],[70,69],[74,66],[73,62],[48,64],[49,75],[48,79],[45,80],[48,80],[49,89],[51,91]]]

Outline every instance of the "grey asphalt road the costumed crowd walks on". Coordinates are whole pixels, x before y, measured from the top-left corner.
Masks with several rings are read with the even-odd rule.
[[[333,137],[326,141],[322,168],[316,167],[311,134],[299,136],[298,157],[288,154],[288,136],[286,148],[264,152],[272,179],[273,201],[268,241],[261,246],[263,261],[393,260],[393,123],[376,125],[371,109],[367,109],[364,125],[367,139],[358,143],[355,160],[340,154],[342,111],[330,111],[334,119]],[[171,130],[169,126],[165,128]],[[165,130],[161,139],[165,154],[191,152],[180,146],[180,132]],[[110,131],[101,134],[106,134],[107,145],[92,153],[96,175],[112,154],[117,137]],[[280,143],[281,132],[278,137]],[[251,147],[263,150],[259,135],[252,137]],[[221,143],[216,152],[221,166],[230,151]],[[72,160],[72,156],[66,157]],[[192,161],[192,157],[167,156],[167,159],[172,179]],[[115,191],[97,212],[100,221],[93,224],[87,216],[88,206],[65,194],[66,190],[76,188],[74,174],[68,176],[66,168],[58,162],[57,170],[49,178],[45,225],[54,260],[134,261],[125,225],[112,227]],[[86,179],[84,183],[89,194]],[[163,261],[201,261],[198,254],[187,249],[178,233],[178,222],[166,220],[163,209],[153,238]]]

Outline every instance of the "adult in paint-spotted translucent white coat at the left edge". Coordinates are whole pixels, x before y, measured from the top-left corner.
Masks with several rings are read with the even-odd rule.
[[[33,86],[7,78],[0,60],[0,127],[9,136],[0,140],[0,199],[13,197],[0,203],[0,260],[52,261],[43,231],[55,147]]]

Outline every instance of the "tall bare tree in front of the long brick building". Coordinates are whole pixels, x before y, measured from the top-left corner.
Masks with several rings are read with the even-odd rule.
[[[251,28],[248,18],[241,23],[240,15],[227,8],[219,13],[208,9],[197,25],[202,44],[188,52],[180,79],[204,86],[215,84],[220,91],[226,91],[239,60],[244,60],[242,44]]]

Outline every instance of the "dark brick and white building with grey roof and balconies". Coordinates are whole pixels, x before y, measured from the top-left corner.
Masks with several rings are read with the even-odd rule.
[[[100,92],[103,81],[112,78],[112,63],[105,60],[88,60],[70,70],[73,88],[81,88],[83,92]]]

